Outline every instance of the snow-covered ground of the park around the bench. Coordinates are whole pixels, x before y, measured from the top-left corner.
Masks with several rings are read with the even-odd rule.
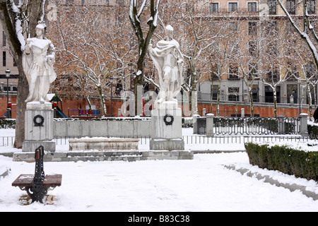
[[[1,130],[0,136],[10,133],[14,131]],[[213,144],[205,147],[211,150]],[[1,147],[0,152],[6,152],[5,148],[20,151]],[[64,151],[66,145],[58,148]],[[317,182],[259,169],[249,165],[247,153],[240,152],[196,154],[194,160],[45,162],[45,174],[63,174],[62,184],[48,193],[54,197],[52,205],[30,204],[26,192],[11,183],[19,174],[33,174],[35,164],[0,155],[0,166],[11,169],[0,179],[0,211],[318,211],[318,201],[300,191],[247,177],[225,165],[269,174],[282,183],[305,185],[318,194]]]

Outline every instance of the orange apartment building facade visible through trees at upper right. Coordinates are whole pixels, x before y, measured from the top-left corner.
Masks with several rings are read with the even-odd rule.
[[[310,18],[313,21],[317,20],[317,3],[315,0],[307,1],[309,7],[307,11],[310,15]],[[294,20],[302,21],[303,8],[301,2],[296,2],[295,0],[285,0],[283,5],[288,10],[290,15]],[[245,30],[242,29],[240,34],[240,39],[244,40],[245,48],[249,55],[252,56],[254,49],[257,48],[257,45],[260,45],[259,38],[264,32],[264,25],[269,27],[271,26],[272,30],[276,30],[274,35],[280,35],[281,40],[288,40],[289,32],[293,31],[292,25],[285,16],[283,9],[279,6],[278,2],[273,1],[211,1],[211,3],[206,6],[206,14],[210,16],[211,20],[220,20],[220,18],[232,18],[236,24],[236,28],[242,29],[245,27]],[[301,28],[301,23],[298,23]],[[265,29],[266,30],[266,29]],[[269,31],[271,32],[271,31]],[[265,34],[268,35],[268,34]],[[303,45],[305,42],[301,40],[300,37],[293,34],[293,43],[295,48],[305,47]],[[255,38],[257,37],[257,38]],[[267,37],[269,38],[269,37]],[[264,40],[263,40],[264,42]],[[266,40],[265,40],[266,42]],[[269,45],[271,44],[273,49],[275,49],[278,54],[273,54],[273,57],[278,57],[276,61],[279,61],[279,52],[281,52],[284,46],[279,46],[276,42],[268,40],[268,46],[263,44],[262,47],[259,47],[260,52],[268,51]],[[296,45],[295,43],[300,45]],[[256,44],[257,43],[257,44]],[[286,42],[287,43],[287,42]],[[242,42],[240,43],[242,44]],[[288,49],[289,52],[292,50]],[[293,49],[294,54],[296,49]],[[287,52],[287,51],[286,51]],[[274,56],[275,55],[275,56]],[[307,97],[307,87],[305,78],[310,77],[310,75],[317,73],[313,61],[307,57],[306,65],[304,65],[305,70],[300,68],[300,65],[296,65],[294,61],[297,61],[299,58],[293,55],[287,59],[281,59],[279,62],[280,67],[274,70],[258,70],[260,66],[255,66],[250,61],[246,62],[246,72],[255,73],[254,80],[250,79],[247,83],[242,79],[242,70],[240,67],[225,67],[224,76],[222,76],[221,81],[218,81],[216,76],[212,76],[211,79],[203,81],[198,84],[197,90],[199,91],[198,96],[199,100],[216,100],[218,94],[218,82],[220,82],[220,100],[223,101],[240,101],[240,102],[249,102],[250,96],[248,95],[248,89],[252,88],[252,98],[254,102],[273,102],[273,87],[276,86],[276,95],[278,103],[294,103],[299,104],[302,102],[303,105],[308,104],[309,99]],[[261,62],[264,58],[259,58],[258,63],[264,65],[264,62]],[[289,65],[290,64],[290,65]],[[248,68],[253,68],[249,70]],[[264,78],[264,81],[261,78]],[[288,79],[286,79],[288,77]],[[317,76],[312,76],[313,80],[318,79]],[[301,78],[300,80],[298,78]],[[269,85],[271,83],[272,85]],[[312,87],[311,87],[312,88]],[[312,103],[317,103],[317,82],[314,83],[314,88],[310,91],[312,98],[316,98],[316,102],[312,100]]]

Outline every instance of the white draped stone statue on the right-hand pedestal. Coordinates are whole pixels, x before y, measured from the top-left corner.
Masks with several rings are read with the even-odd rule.
[[[176,96],[184,83],[183,55],[179,43],[173,39],[172,34],[172,26],[167,25],[164,40],[160,40],[155,48],[152,48],[152,44],[148,47],[160,81],[160,92],[155,101],[155,109],[162,108],[160,104],[163,102],[175,102],[174,106],[177,106]]]

